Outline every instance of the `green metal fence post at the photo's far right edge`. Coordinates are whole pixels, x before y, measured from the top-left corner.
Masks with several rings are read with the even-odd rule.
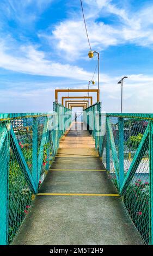
[[[149,237],[150,237],[150,245],[153,245],[153,125],[152,121],[149,126],[149,173],[150,173],[150,223],[149,223]]]

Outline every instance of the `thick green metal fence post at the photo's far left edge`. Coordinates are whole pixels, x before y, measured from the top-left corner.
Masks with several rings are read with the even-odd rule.
[[[0,245],[8,244],[8,203],[9,203],[9,132],[6,123],[0,127]]]

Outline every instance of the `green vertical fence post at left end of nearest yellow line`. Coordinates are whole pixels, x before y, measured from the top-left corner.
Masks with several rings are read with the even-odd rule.
[[[38,121],[33,118],[32,174],[38,190]]]

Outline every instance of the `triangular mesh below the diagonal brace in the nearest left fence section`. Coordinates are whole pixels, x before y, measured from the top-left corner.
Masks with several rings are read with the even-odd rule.
[[[24,218],[28,214],[32,202],[31,187],[23,175],[17,152],[10,150],[9,166],[9,243],[11,243],[20,228]]]

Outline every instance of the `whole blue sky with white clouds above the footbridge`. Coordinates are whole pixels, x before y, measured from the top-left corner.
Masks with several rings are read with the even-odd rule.
[[[103,111],[120,111],[117,82],[126,75],[124,112],[151,113],[153,1],[83,6],[92,50],[100,52]],[[54,89],[87,88],[97,63],[88,51],[79,0],[1,0],[0,112],[51,111]]]

